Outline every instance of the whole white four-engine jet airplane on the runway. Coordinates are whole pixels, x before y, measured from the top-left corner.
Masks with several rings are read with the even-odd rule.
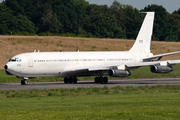
[[[180,60],[159,61],[180,51],[153,55],[150,51],[155,12],[146,16],[137,39],[129,51],[108,52],[32,52],[12,57],[4,66],[6,74],[22,79],[64,77],[64,83],[77,83],[77,77],[95,77],[95,83],[108,83],[108,77],[128,77],[130,70],[150,66],[152,73],[170,73]],[[105,76],[105,77],[104,77]]]

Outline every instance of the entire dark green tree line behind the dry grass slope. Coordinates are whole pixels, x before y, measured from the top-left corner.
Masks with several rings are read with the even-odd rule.
[[[116,0],[110,7],[85,0],[5,0],[0,3],[0,34],[136,39],[144,11],[156,13],[153,40],[180,41],[180,9],[170,14],[152,4],[138,10]]]

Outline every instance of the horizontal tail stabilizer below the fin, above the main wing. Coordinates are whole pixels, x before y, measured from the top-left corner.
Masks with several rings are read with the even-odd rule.
[[[143,61],[144,61],[144,62],[148,62],[148,61],[159,61],[163,56],[168,56],[168,55],[173,55],[173,54],[178,54],[178,53],[180,53],[180,51],[171,52],[171,53],[165,53],[165,54],[159,54],[159,55],[154,55],[154,56],[152,56],[152,57],[144,58]]]

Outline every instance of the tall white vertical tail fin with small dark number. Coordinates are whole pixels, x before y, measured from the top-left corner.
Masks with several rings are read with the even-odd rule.
[[[146,17],[141,26],[139,34],[133,47],[129,52],[133,53],[150,53],[151,48],[151,37],[154,23],[154,12],[146,12]]]

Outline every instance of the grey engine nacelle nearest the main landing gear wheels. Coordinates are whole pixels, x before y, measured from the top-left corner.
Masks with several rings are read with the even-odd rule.
[[[126,70],[111,69],[108,71],[108,75],[111,77],[128,77],[131,75],[131,72]]]

